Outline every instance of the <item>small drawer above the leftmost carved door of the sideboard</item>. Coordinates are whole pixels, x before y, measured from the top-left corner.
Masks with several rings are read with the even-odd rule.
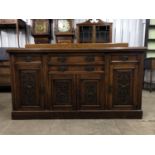
[[[15,57],[16,62],[41,62],[40,55],[17,55]]]

